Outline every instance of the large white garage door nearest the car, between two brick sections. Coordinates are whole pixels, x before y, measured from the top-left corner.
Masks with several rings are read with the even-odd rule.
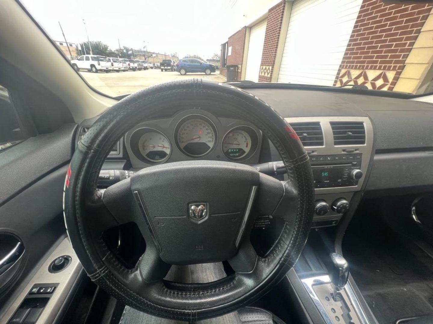
[[[295,0],[278,82],[332,86],[362,0]]]

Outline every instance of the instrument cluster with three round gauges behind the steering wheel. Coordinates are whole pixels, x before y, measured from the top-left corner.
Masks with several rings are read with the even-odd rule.
[[[171,119],[141,123],[126,133],[125,140],[133,158],[155,165],[188,159],[248,163],[257,156],[262,138],[261,132],[247,122],[194,110]]]

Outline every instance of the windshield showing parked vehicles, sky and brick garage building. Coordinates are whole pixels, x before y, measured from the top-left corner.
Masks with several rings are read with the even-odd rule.
[[[109,96],[187,78],[433,92],[432,3],[167,0],[125,11],[112,0],[74,10],[22,1],[77,73]],[[91,67],[82,55],[130,64]]]

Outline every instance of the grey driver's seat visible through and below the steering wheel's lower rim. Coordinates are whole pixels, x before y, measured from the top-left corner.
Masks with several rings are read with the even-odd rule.
[[[172,266],[166,280],[180,283],[209,283],[226,276],[223,264],[207,263],[188,266]],[[170,320],[152,316],[126,306],[119,324],[185,324],[184,321]],[[223,316],[194,322],[195,324],[284,324],[284,321],[258,307],[244,307]]]

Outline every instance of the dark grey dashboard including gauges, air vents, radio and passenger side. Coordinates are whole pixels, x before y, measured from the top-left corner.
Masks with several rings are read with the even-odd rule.
[[[433,185],[433,105],[348,92],[246,90],[278,111],[304,144],[316,196],[313,227],[337,225],[362,195]],[[96,119],[80,125],[77,143]],[[113,146],[103,169],[138,171],[197,159],[248,164],[287,179],[259,129],[205,109],[138,123]]]

